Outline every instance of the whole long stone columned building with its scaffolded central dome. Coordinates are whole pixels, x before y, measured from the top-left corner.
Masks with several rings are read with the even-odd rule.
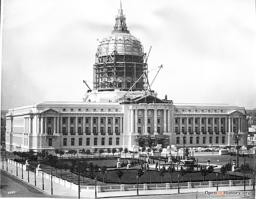
[[[127,30],[122,6],[96,52],[93,90],[83,102],[43,102],[6,115],[7,151],[247,145],[244,107],[159,99],[147,81],[147,55]],[[159,68],[160,70],[160,68]],[[235,135],[235,136],[234,136]]]

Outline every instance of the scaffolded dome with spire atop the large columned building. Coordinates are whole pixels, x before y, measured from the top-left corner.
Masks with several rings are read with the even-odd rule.
[[[133,91],[142,91],[147,89],[146,74],[146,54],[141,42],[127,30],[120,3],[114,30],[97,49],[93,88],[128,91],[133,87]]]

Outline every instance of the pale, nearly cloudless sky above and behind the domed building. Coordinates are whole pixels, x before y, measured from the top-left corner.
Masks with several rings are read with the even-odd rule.
[[[119,7],[119,0],[2,1],[1,110],[82,101]],[[163,65],[152,85],[160,99],[245,109],[256,108],[255,7],[252,0],[122,0],[128,30],[145,53],[152,46],[148,70]]]

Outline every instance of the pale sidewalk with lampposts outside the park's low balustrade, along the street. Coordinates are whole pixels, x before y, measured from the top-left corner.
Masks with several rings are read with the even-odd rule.
[[[3,162],[1,160],[1,170],[6,171],[6,161],[4,161],[4,170],[2,166]],[[12,171],[12,173],[11,173]],[[14,177],[16,177],[16,166],[8,163],[8,172]],[[18,168],[18,177],[22,180],[22,170]],[[36,186],[34,186],[34,172],[29,171],[29,180],[28,182],[28,172],[23,170],[23,180],[25,183],[30,184],[34,188],[46,193],[51,197],[51,181],[44,178],[44,190],[42,190],[42,177],[36,176]],[[180,188],[180,193],[195,193],[196,189],[198,192],[215,192],[216,187],[211,188]],[[226,186],[219,187],[219,191],[243,191],[244,186]],[[252,186],[246,186],[246,191],[252,190]],[[159,189],[159,190],[139,190],[139,196],[141,195],[170,195],[178,194],[178,189]],[[78,198],[78,192],[72,189],[66,188],[60,184],[53,182],[53,196],[65,197],[65,198]],[[123,196],[137,196],[137,191],[124,191],[124,192],[99,192],[97,193],[97,198],[111,198],[111,197],[123,197]],[[208,196],[208,195],[207,195]],[[80,198],[89,199],[95,198],[95,192],[80,192]]]

